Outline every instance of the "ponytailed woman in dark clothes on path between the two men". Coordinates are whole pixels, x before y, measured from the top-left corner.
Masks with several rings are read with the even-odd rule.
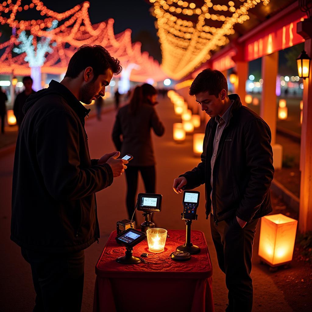
[[[134,212],[139,172],[146,193],[155,193],[156,173],[151,129],[158,136],[162,136],[165,131],[154,108],[156,104],[157,90],[152,85],[145,83],[137,86],[129,104],[118,111],[112,132],[112,139],[121,156],[133,156],[126,171],[126,205],[130,219]]]

